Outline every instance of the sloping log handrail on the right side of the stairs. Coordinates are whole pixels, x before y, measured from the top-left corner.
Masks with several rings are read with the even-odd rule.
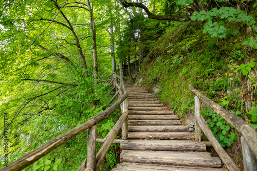
[[[254,154],[255,158],[257,158],[257,132],[254,130],[254,128],[244,121],[244,119],[222,108],[222,106],[207,98],[192,86],[189,86],[189,89],[194,92],[199,99],[205,102],[209,108],[219,114],[224,120],[231,124],[236,131],[244,136],[245,141],[249,145],[252,153]]]

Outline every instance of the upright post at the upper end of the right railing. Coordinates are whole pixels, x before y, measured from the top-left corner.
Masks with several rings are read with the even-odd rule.
[[[196,120],[196,118],[200,118],[200,100],[197,96],[194,97],[194,122],[195,122],[195,141],[201,142],[201,129]]]

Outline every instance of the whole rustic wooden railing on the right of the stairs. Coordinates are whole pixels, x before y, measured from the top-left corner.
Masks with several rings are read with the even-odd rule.
[[[195,93],[195,141],[201,141],[201,131],[211,142],[218,156],[221,157],[224,164],[229,170],[240,170],[236,164],[225,152],[223,147],[218,143],[203,116],[200,114],[200,100],[208,105],[213,111],[219,114],[224,120],[231,124],[241,136],[243,148],[244,169],[247,171],[257,170],[257,133],[251,125],[244,121],[241,117],[225,110],[222,106],[205,97],[199,91],[189,86],[189,89]]]

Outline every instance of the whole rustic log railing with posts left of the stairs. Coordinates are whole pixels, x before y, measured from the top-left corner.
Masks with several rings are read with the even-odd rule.
[[[44,157],[46,154],[53,151],[63,143],[67,142],[71,138],[77,136],[78,134],[87,131],[87,156],[84,162],[80,165],[78,170],[96,170],[101,161],[103,160],[104,156],[109,150],[109,147],[112,145],[113,140],[117,137],[117,134],[122,126],[122,139],[127,139],[127,99],[128,94],[126,91],[125,83],[122,77],[116,75],[116,73],[112,74],[112,80],[114,84],[118,85],[118,92],[119,99],[111,105],[107,110],[103,111],[102,113],[91,117],[85,123],[75,127],[59,135],[58,137],[50,140],[49,142],[45,143],[44,145],[40,146],[39,148],[34,149],[34,151],[28,153],[27,155],[21,157],[20,159],[15,160],[14,162],[8,164],[7,167],[2,167],[0,171],[9,171],[9,170],[22,170],[23,168],[29,166],[30,164],[34,163],[35,161],[39,160],[40,158]],[[114,99],[114,98],[113,98]],[[112,100],[113,100],[112,99]],[[111,103],[111,102],[109,102]],[[103,143],[102,147],[99,149],[98,153],[96,154],[96,138],[97,138],[97,126],[96,124],[101,122],[102,120],[111,116],[116,109],[121,107],[122,116],[119,118],[117,123],[114,125],[113,129],[108,133],[108,135],[104,138],[105,142]],[[86,169],[87,167],[87,169]]]

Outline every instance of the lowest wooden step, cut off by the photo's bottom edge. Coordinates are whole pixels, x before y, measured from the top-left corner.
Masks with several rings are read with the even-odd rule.
[[[226,168],[206,168],[206,167],[190,167],[190,166],[174,166],[162,164],[142,164],[142,163],[127,163],[123,162],[117,164],[117,168],[113,171],[228,171]]]

